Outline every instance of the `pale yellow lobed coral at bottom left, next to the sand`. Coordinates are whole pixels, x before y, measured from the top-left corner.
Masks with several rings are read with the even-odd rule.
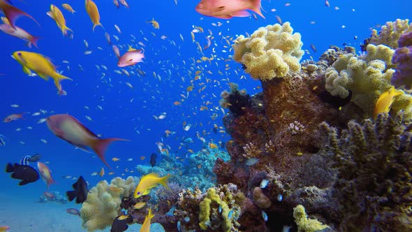
[[[122,198],[130,196],[134,188],[133,177],[128,177],[127,180],[116,177],[110,184],[105,180],[98,182],[90,189],[87,200],[80,209],[83,227],[87,231],[96,231],[112,225],[115,218],[119,216]]]

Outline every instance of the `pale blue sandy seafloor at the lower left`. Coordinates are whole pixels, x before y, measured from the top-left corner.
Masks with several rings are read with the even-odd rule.
[[[68,208],[80,209],[75,203],[36,203],[37,198],[10,196],[6,189],[0,192],[0,226],[10,226],[10,232],[79,232],[82,219],[66,212]],[[110,231],[110,227],[103,231]],[[140,224],[129,226],[127,232],[140,231]],[[150,231],[163,232],[159,224],[152,224]]]

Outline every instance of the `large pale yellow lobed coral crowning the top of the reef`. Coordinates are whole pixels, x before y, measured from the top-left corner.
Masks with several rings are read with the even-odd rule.
[[[246,66],[253,79],[282,78],[289,71],[300,71],[304,55],[299,33],[289,22],[260,27],[250,38],[239,36],[233,45],[233,59]]]

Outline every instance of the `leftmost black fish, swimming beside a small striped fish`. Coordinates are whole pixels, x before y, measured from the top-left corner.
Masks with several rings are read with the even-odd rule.
[[[20,181],[19,185],[29,184],[31,182],[36,182],[40,175],[35,168],[28,165],[11,164],[8,163],[6,166],[6,173],[12,173],[11,177]]]

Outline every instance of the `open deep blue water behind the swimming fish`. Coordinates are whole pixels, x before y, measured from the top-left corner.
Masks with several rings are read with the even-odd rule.
[[[50,190],[62,192],[68,190],[73,183],[72,180],[63,179],[62,176],[65,175],[73,177],[84,175],[92,185],[102,179],[110,180],[117,175],[129,175],[124,171],[125,168],[132,170],[137,164],[148,165],[150,154],[157,151],[155,143],[161,140],[165,145],[170,145],[172,148],[170,152],[184,157],[190,154],[187,152],[188,148],[196,152],[202,147],[202,143],[196,138],[196,132],[200,133],[207,142],[218,143],[230,139],[226,133],[215,134],[212,131],[213,124],[223,126],[221,111],[214,109],[219,106],[220,93],[228,89],[228,81],[223,79],[228,78],[229,82],[237,82],[240,89],[247,89],[249,94],[259,92],[256,87],[260,86],[260,82],[251,80],[249,75],[246,80],[240,80],[240,76],[245,75],[240,64],[216,59],[211,64],[208,61],[196,63],[190,75],[193,59],[198,60],[202,57],[196,44],[191,41],[190,31],[193,25],[205,29],[203,34],[196,34],[196,41],[202,46],[206,44],[207,29],[210,29],[214,35],[211,48],[204,51],[206,57],[211,56],[214,48],[217,57],[228,59],[233,52],[229,52],[230,48],[223,48],[223,45],[227,44],[221,40],[222,36],[236,37],[245,32],[251,34],[258,27],[276,23],[275,15],[279,15],[284,22],[289,21],[296,32],[302,34],[303,49],[311,52],[310,55],[305,55],[304,59],[309,59],[311,56],[316,60],[329,45],[341,46],[346,43],[358,49],[363,39],[369,37],[370,28],[397,18],[409,17],[412,6],[412,3],[405,0],[389,2],[330,0],[329,8],[324,6],[322,0],[264,0],[262,6],[266,11],[263,12],[266,19],[237,17],[232,20],[219,20],[196,13],[195,7],[198,1],[180,0],[176,6],[173,0],[130,0],[129,9],[124,7],[117,9],[112,1],[96,1],[104,29],[96,27],[93,32],[92,23],[84,8],[84,1],[52,1],[63,11],[67,26],[74,31],[74,38],[69,39],[61,34],[54,20],[46,15],[50,10],[50,1],[24,3],[15,0],[13,3],[41,24],[41,27],[38,27],[29,18],[21,17],[17,20],[17,26],[26,29],[34,36],[40,36],[41,40],[38,41],[39,49],[29,49],[24,41],[0,34],[0,73],[5,74],[0,75],[0,117],[6,117],[11,113],[27,112],[22,120],[0,124],[0,134],[7,138],[6,146],[0,146],[0,164],[5,166],[7,162],[17,162],[24,154],[41,153],[42,161],[49,162],[48,166],[57,181]],[[68,13],[61,7],[61,3],[70,3],[77,13],[74,15]],[[285,3],[290,3],[290,6],[284,6]],[[335,6],[339,7],[339,10],[335,10]],[[272,8],[276,11],[272,12]],[[146,22],[152,18],[159,22],[159,30]],[[311,21],[316,23],[311,24]],[[213,22],[221,22],[222,25],[214,27]],[[122,34],[117,33],[114,24],[122,29]],[[342,25],[345,28],[342,28]],[[120,68],[117,67],[117,58],[112,52],[111,45],[105,41],[105,31],[119,37],[118,43],[115,38],[112,38],[112,43],[125,47],[121,50],[122,54],[126,52],[128,44],[133,48],[141,48],[140,45],[131,42],[131,34],[135,36],[136,42],[141,41],[145,44],[145,62],[125,69],[130,72],[140,68],[147,75],[127,77],[114,72]],[[179,34],[182,34],[184,41]],[[163,40],[161,36],[167,38]],[[354,36],[358,36],[358,39],[355,40]],[[88,41],[89,50],[93,51],[91,55],[83,54],[85,50],[83,40]],[[172,45],[171,41],[174,41],[175,45]],[[311,44],[318,52],[311,50]],[[103,50],[99,50],[98,47]],[[10,57],[17,50],[38,52],[49,57],[58,66],[59,71],[64,71],[64,75],[73,79],[73,81],[62,82],[68,95],[58,96],[52,81],[45,82],[41,78],[25,75],[20,64]],[[65,64],[64,60],[69,61],[69,64]],[[226,64],[230,66],[227,71],[225,71]],[[83,70],[80,70],[79,65]],[[108,71],[103,68],[99,71],[96,65],[105,65]],[[198,70],[196,66],[205,68],[202,80],[194,81],[195,85],[193,91],[189,92],[189,97],[180,106],[174,106],[173,102],[182,99],[181,94],[186,96],[186,87],[191,85],[193,73]],[[223,75],[218,74],[219,70]],[[207,74],[206,71],[211,71],[213,74]],[[161,80],[154,78],[153,72],[160,75]],[[105,73],[103,79],[110,78],[110,83],[102,81],[103,73]],[[198,83],[206,82],[206,78],[209,82],[199,93],[203,86]],[[131,83],[134,88],[131,89],[125,82]],[[212,103],[207,106],[209,110],[200,111],[201,106],[206,106],[206,101]],[[20,107],[10,107],[13,104],[18,104]],[[99,110],[97,106],[101,106],[103,110]],[[40,110],[47,110],[47,114],[31,116]],[[159,116],[163,112],[167,113],[165,119],[154,119],[153,115]],[[69,113],[91,131],[101,133],[105,138],[119,137],[131,140],[113,143],[106,152],[106,159],[114,169],[114,175],[106,174],[103,178],[98,175],[91,176],[91,173],[98,172],[101,167],[104,167],[103,162],[95,154],[75,150],[72,145],[54,136],[45,123],[37,123],[38,119],[54,113]],[[211,118],[213,113],[218,115],[214,120]],[[92,121],[85,116],[91,117]],[[189,131],[184,131],[182,126],[184,122],[193,125]],[[27,129],[27,126],[33,129]],[[163,135],[166,129],[175,131],[175,135],[165,138]],[[195,143],[191,143],[188,148],[179,149],[182,138],[187,137],[193,138]],[[47,140],[47,144],[41,142],[41,139]],[[113,162],[113,157],[121,160]],[[145,159],[141,160],[140,157]],[[133,158],[133,161],[126,161],[128,158]],[[108,173],[108,169],[105,169]],[[11,179],[6,173],[1,175],[2,191],[7,191],[8,194],[36,199],[45,191],[45,184],[41,181],[19,187],[17,180]]]

